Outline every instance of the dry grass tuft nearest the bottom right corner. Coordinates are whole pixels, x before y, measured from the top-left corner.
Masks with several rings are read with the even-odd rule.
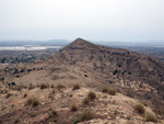
[[[144,116],[147,122],[157,122],[157,117],[153,112],[147,112]]]

